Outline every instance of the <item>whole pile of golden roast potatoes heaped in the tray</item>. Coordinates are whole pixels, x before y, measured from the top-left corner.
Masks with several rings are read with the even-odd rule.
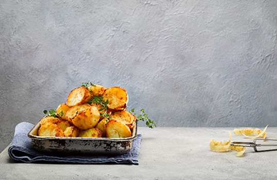
[[[101,103],[91,102],[96,96],[108,102],[105,109]],[[66,103],[58,106],[57,116],[45,116],[40,120],[38,136],[131,137],[136,116],[126,111],[127,103],[125,89],[118,86],[77,87],[70,92]]]

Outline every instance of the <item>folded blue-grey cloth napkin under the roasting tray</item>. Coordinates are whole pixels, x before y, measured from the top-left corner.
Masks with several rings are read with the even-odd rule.
[[[41,153],[33,149],[31,139],[27,136],[34,124],[21,122],[16,125],[14,137],[9,147],[9,156],[14,160],[20,160],[25,163],[34,163],[48,161],[52,163],[81,163],[81,164],[134,164],[138,165],[138,155],[141,141],[141,134],[133,140],[132,149],[123,155],[66,155]]]

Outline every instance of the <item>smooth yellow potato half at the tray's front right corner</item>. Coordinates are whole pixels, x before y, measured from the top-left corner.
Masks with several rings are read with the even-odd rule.
[[[131,137],[132,132],[123,122],[109,120],[106,125],[106,136],[109,138]]]

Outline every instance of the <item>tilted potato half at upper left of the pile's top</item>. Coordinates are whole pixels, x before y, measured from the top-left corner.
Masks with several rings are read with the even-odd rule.
[[[66,105],[72,107],[75,105],[85,104],[91,99],[89,90],[84,87],[77,87],[73,89],[67,97]]]

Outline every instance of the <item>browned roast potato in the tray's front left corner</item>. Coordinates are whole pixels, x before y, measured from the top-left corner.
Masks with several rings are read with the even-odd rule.
[[[38,131],[39,136],[54,136],[54,137],[64,137],[64,132],[59,125],[51,123],[51,122],[46,122],[41,125],[39,131]]]

